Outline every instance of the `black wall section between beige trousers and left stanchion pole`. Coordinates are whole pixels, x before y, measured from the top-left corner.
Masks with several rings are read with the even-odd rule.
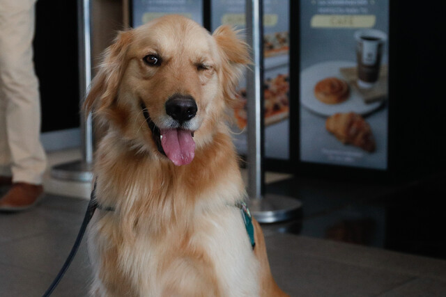
[[[33,46],[42,131],[79,127],[77,1],[37,1]]]

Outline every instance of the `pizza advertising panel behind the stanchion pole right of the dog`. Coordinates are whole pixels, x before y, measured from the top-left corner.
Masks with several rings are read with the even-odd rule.
[[[245,29],[245,0],[211,1],[211,29],[222,24]],[[263,110],[265,156],[289,159],[289,0],[263,1]],[[247,153],[246,81],[240,81],[240,106],[233,112],[236,147]]]

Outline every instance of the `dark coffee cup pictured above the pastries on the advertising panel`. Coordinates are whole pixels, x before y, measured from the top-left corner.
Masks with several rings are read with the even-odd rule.
[[[356,40],[357,86],[372,88],[378,81],[387,34],[376,29],[364,29],[356,31],[354,37]]]

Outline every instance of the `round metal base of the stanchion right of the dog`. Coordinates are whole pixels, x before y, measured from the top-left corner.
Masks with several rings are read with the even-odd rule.
[[[261,199],[250,199],[249,210],[259,223],[278,223],[297,218],[302,202],[282,195],[266,194]]]

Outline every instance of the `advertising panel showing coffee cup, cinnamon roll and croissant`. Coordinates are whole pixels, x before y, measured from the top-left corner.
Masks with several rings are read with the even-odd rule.
[[[300,1],[300,161],[387,170],[389,1]]]

